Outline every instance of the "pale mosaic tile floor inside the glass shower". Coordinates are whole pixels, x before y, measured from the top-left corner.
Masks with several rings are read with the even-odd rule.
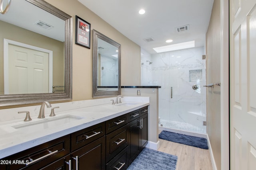
[[[158,126],[166,127],[166,128],[170,128],[170,129],[179,129],[179,130],[183,130],[183,131],[190,131],[190,132],[195,132],[195,133],[206,133],[206,128],[202,129],[200,127],[191,125],[186,122],[170,121],[170,120],[161,119]]]

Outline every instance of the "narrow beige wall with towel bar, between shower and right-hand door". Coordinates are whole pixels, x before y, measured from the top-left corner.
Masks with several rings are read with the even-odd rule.
[[[206,36],[206,84],[220,82],[220,0],[214,0]],[[221,169],[220,86],[207,88],[207,133],[217,169]]]

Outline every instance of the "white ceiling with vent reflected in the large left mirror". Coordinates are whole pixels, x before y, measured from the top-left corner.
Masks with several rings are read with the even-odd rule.
[[[8,12],[0,14],[0,20],[58,41],[65,41],[65,21],[25,0],[13,0]],[[34,24],[39,20],[53,27],[44,29]]]

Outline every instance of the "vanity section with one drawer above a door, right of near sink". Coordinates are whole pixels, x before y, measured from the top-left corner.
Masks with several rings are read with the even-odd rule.
[[[104,170],[106,167],[105,122],[71,134],[73,170]]]

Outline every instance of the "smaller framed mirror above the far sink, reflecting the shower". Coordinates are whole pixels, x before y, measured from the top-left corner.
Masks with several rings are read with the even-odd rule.
[[[121,94],[121,45],[92,30],[92,97]]]

